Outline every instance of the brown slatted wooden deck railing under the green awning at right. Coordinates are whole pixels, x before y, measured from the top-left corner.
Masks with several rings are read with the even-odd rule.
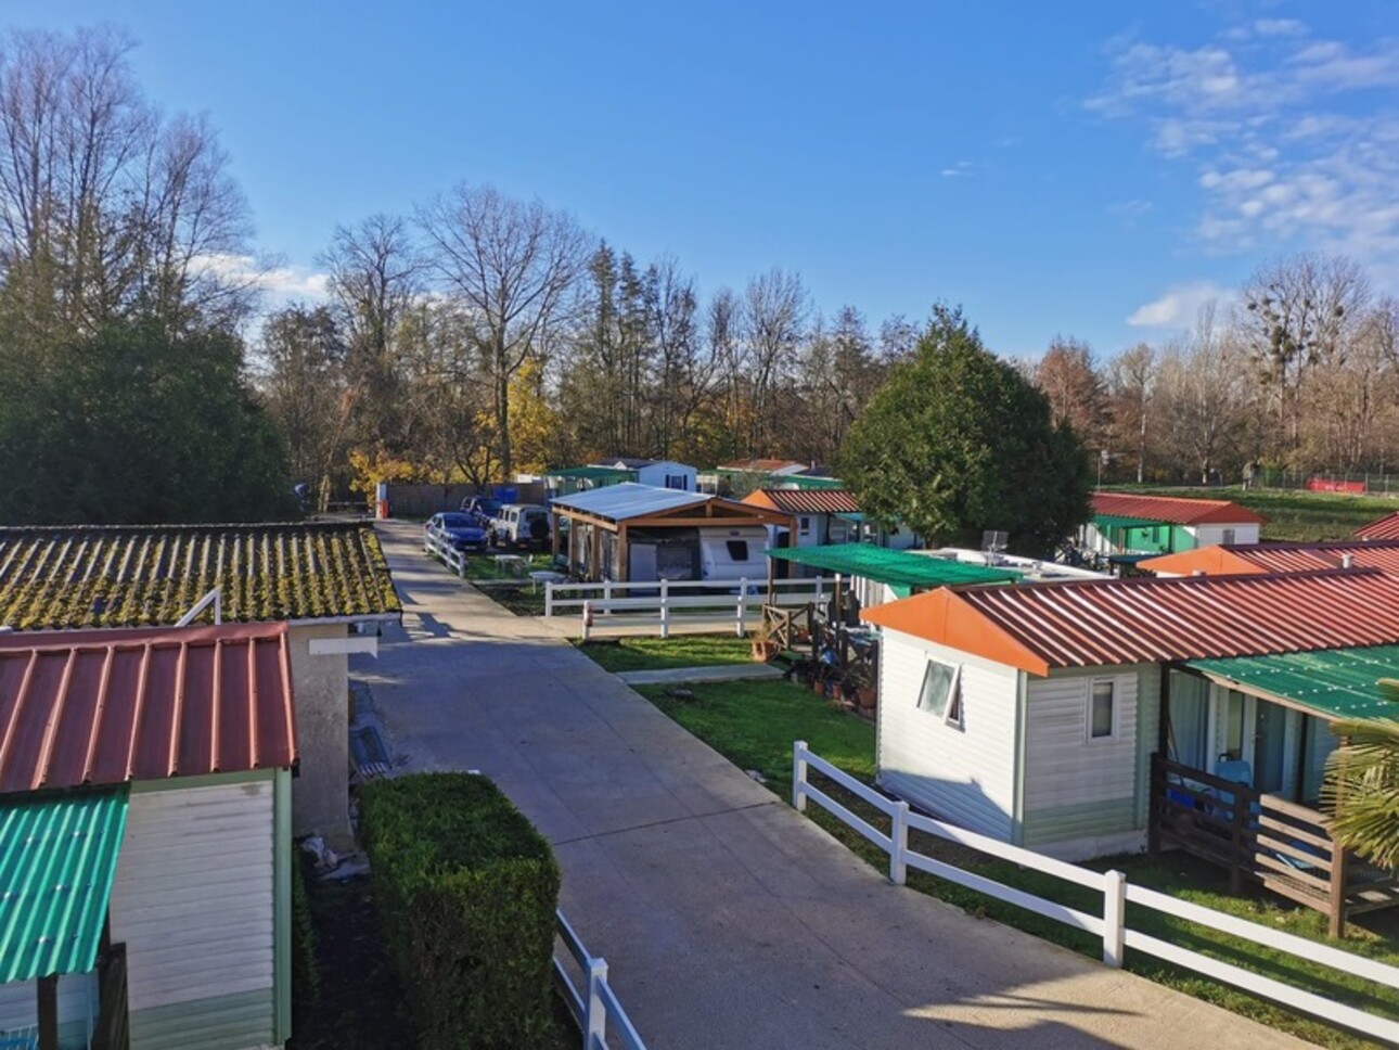
[[[1321,811],[1151,756],[1151,848],[1177,847],[1226,868],[1230,889],[1244,882],[1315,909],[1332,937],[1361,911],[1399,904],[1395,872],[1370,867],[1330,837]]]

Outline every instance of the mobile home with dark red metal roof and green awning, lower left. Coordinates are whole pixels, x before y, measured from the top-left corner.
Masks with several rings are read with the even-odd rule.
[[[281,1046],[295,764],[285,624],[0,636],[0,1040]]]

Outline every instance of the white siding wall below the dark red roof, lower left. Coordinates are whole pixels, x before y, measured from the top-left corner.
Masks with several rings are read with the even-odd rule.
[[[112,939],[126,942],[133,1049],[166,1046],[141,1037],[144,1021],[168,1029],[179,1008],[224,1032],[227,1046],[271,1042],[273,892],[270,773],[132,792],[111,914]],[[228,1016],[200,1005],[207,1000],[228,1002]],[[249,1016],[260,1001],[266,1015]]]

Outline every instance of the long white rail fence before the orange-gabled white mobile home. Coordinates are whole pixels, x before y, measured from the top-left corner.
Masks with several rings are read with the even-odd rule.
[[[1121,871],[1091,871],[1090,868],[1081,868],[1076,864],[1067,864],[1052,857],[1045,857],[1044,854],[1024,850],[1018,846],[1009,846],[1007,843],[988,839],[983,834],[968,832],[963,827],[957,827],[956,825],[949,825],[942,820],[933,820],[932,818],[914,813],[909,811],[908,802],[886,798],[846,773],[842,773],[820,756],[811,753],[806,746],[806,741],[796,741],[792,749],[792,805],[799,811],[806,811],[806,802],[807,799],[811,799],[823,809],[830,811],[844,823],[849,825],[865,839],[869,839],[872,843],[884,850],[888,854],[888,878],[890,882],[894,882],[895,885],[904,885],[908,868],[926,871],[929,875],[936,875],[940,879],[956,882],[957,885],[967,886],[978,893],[985,893],[989,897],[1004,900],[1010,904],[1016,904],[1017,907],[1034,911],[1038,916],[1045,916],[1046,918],[1053,918],[1065,925],[1101,937],[1102,962],[1108,966],[1122,966],[1125,949],[1132,948],[1133,951],[1156,956],[1157,959],[1163,959],[1174,966],[1193,970],[1195,973],[1217,980],[1221,984],[1233,984],[1234,987],[1244,988],[1245,991],[1262,998],[1280,1002],[1290,1009],[1309,1014],[1333,1025],[1378,1039],[1382,1043],[1399,1044],[1399,1022],[1375,1016],[1374,1014],[1367,1014],[1361,1009],[1356,1009],[1354,1007],[1335,1002],[1323,995],[1316,995],[1291,984],[1283,984],[1272,977],[1265,977],[1259,973],[1254,973],[1252,970],[1245,970],[1240,966],[1234,966],[1233,963],[1220,962],[1219,959],[1202,955],[1200,952],[1193,952],[1188,948],[1181,948],[1168,941],[1161,941],[1160,938],[1132,930],[1128,927],[1126,906],[1128,903],[1132,903],[1165,913],[1168,916],[1175,916],[1177,918],[1184,918],[1189,923],[1198,923],[1199,925],[1209,927],[1210,930],[1219,930],[1220,932],[1230,934],[1245,941],[1252,941],[1254,944],[1265,945],[1274,951],[1294,955],[1300,959],[1309,959],[1311,962],[1322,963],[1343,973],[1363,977],[1364,980],[1374,981],[1377,984],[1384,984],[1389,988],[1399,990],[1399,967],[1389,966],[1375,959],[1367,959],[1361,955],[1354,955],[1339,948],[1332,948],[1326,944],[1308,941],[1307,938],[1287,934],[1280,930],[1272,930],[1269,927],[1259,925],[1258,923],[1249,923],[1244,918],[1224,914],[1223,911],[1214,911],[1213,909],[1178,900],[1177,897],[1146,889],[1144,886],[1132,886],[1128,883],[1126,875]],[[890,833],[886,834],[873,825],[862,820],[824,791],[813,787],[807,781],[809,769],[814,769],[825,774],[846,791],[853,792],[888,816]],[[1102,893],[1102,911],[1101,914],[1079,911],[1065,904],[1059,904],[1058,902],[1035,896],[1034,893],[1027,893],[1025,890],[1016,889],[1014,886],[1006,886],[995,879],[977,875],[975,872],[957,868],[951,864],[946,864],[944,861],[937,861],[932,857],[909,850],[909,829],[926,832],[928,834],[960,843],[961,846],[979,850],[981,853],[990,854],[992,857],[999,857],[1000,860],[1010,861],[1011,864],[1042,871],[1066,882],[1073,882],[1079,886],[1097,890]]]

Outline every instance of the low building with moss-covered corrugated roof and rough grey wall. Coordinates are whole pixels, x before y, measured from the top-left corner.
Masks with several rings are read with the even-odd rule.
[[[371,525],[0,528],[0,626],[15,631],[173,626],[215,588],[222,622],[288,624],[295,833],[348,846],[348,654],[378,652],[379,624],[403,615]]]

